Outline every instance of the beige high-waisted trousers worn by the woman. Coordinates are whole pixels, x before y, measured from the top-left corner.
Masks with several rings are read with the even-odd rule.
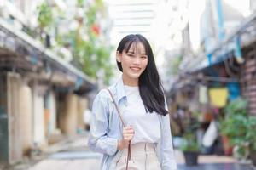
[[[116,170],[125,170],[128,150],[123,150],[120,158],[116,161]],[[160,170],[160,162],[156,156],[154,144],[138,143],[131,144],[131,161],[129,170]]]

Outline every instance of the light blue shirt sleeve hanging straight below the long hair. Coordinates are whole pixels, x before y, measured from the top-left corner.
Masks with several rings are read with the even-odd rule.
[[[168,107],[165,101],[165,107],[168,111]],[[173,146],[172,146],[172,133],[170,127],[170,116],[162,116],[162,144],[161,144],[161,167],[162,170],[177,170],[177,163],[174,157]]]

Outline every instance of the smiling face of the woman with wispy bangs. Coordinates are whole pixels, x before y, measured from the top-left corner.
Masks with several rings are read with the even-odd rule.
[[[124,78],[131,81],[138,81],[148,65],[148,56],[141,42],[131,44],[127,53],[125,50],[122,54],[117,52],[117,60],[122,65]]]

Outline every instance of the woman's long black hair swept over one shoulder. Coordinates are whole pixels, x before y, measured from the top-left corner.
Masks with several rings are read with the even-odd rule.
[[[134,43],[137,44],[138,42],[143,44],[146,54],[148,55],[148,65],[138,80],[139,92],[143,99],[143,104],[147,112],[152,113],[155,111],[160,115],[166,116],[168,111],[165,109],[164,88],[160,82],[159,73],[154,63],[154,54],[148,40],[140,34],[130,34],[119,42],[117,51],[122,54],[125,50],[125,53],[127,53],[131,45]],[[119,70],[123,71],[121,63],[116,62]]]

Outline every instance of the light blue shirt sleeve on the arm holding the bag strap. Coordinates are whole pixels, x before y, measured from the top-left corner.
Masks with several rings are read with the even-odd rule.
[[[93,101],[88,146],[90,150],[113,156],[117,151],[118,139],[109,138],[108,92],[101,90]]]

